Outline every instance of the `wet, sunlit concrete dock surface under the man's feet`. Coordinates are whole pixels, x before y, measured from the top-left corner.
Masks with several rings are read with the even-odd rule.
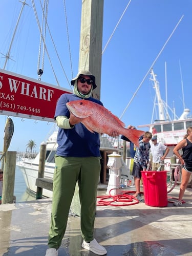
[[[108,256],[192,255],[192,189],[186,189],[182,206],[173,206],[178,195],[179,187],[168,194],[167,207],[97,206],[95,239]],[[0,255],[45,255],[51,204],[52,199],[40,199],[0,205]],[[80,218],[69,216],[58,255],[95,255],[81,242]]]

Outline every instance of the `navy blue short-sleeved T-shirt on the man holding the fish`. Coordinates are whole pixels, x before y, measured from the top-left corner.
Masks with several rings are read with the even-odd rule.
[[[62,94],[57,101],[55,116],[66,116],[70,117],[70,112],[66,106],[66,103],[72,100],[82,100],[75,94]],[[103,105],[101,101],[92,97],[83,100],[91,100],[100,105]],[[91,133],[82,124],[75,124],[72,129],[61,129],[58,130],[57,135],[57,152],[58,156],[65,157],[100,157],[100,140],[98,133]]]

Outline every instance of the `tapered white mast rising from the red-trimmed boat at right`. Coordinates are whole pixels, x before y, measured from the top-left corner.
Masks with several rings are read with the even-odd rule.
[[[154,74],[153,69],[151,70],[151,75],[152,75],[152,77],[150,78],[150,80],[152,80],[154,82],[154,89],[155,89],[156,95],[157,95],[158,109],[159,109],[159,121],[164,121],[165,116],[164,116],[164,110],[163,110],[163,101],[161,99],[161,94],[160,94],[160,90],[159,90],[159,82],[156,80],[156,75]]]

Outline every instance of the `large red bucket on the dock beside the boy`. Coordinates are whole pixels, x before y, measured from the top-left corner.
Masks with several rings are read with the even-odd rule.
[[[155,207],[167,206],[167,172],[166,170],[141,171],[145,204]]]

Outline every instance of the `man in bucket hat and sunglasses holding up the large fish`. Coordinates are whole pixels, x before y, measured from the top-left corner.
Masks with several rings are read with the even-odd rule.
[[[95,76],[89,71],[80,71],[71,80],[73,94],[62,94],[57,101],[55,119],[59,127],[57,152],[53,176],[52,213],[46,256],[57,256],[65,234],[69,210],[75,191],[79,186],[81,204],[80,222],[82,247],[98,255],[106,254],[103,246],[94,239],[94,221],[96,211],[97,186],[100,175],[100,140],[98,133],[91,133],[68,110],[66,103],[72,100],[90,100],[103,105],[91,97],[97,87]],[[110,136],[118,136],[112,131]]]

